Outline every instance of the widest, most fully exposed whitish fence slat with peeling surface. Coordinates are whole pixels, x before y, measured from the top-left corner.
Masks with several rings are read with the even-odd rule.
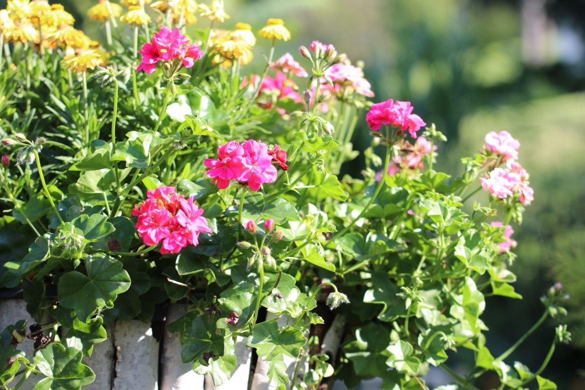
[[[116,321],[116,378],[114,390],[158,390],[159,343],[152,337],[150,323]]]

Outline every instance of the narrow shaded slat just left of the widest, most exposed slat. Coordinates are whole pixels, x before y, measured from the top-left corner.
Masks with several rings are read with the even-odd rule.
[[[108,333],[108,339],[99,344],[94,344],[94,351],[91,356],[85,356],[83,363],[90,366],[95,372],[95,381],[87,386],[84,390],[104,390],[112,388],[114,355],[115,347],[113,345],[113,325],[105,326]]]

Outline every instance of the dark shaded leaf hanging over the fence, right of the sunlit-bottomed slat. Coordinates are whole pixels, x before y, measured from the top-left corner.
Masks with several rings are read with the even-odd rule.
[[[183,351],[181,360],[189,363],[195,359],[207,365],[209,356],[223,355],[223,337],[215,333],[215,321],[207,315],[198,316],[181,336]],[[205,354],[205,356],[204,356]]]

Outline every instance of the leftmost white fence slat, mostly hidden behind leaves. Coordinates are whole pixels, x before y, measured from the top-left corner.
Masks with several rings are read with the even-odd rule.
[[[0,299],[0,332],[8,325],[14,325],[19,320],[26,320],[26,332],[30,332],[30,325],[36,323],[32,319],[29,312],[26,311],[26,302],[24,299]],[[26,358],[32,363],[33,356],[35,356],[35,347],[33,344],[35,341],[25,339],[22,343],[18,344],[18,349],[23,351]],[[22,366],[20,366],[22,368]],[[15,386],[18,381],[22,378],[22,375],[14,378],[11,382],[12,386]],[[36,380],[35,380],[36,379]],[[31,374],[26,382],[20,386],[22,390],[31,390],[37,382],[44,379],[43,375]]]

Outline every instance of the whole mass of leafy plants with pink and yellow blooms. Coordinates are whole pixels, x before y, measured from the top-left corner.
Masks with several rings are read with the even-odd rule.
[[[168,328],[182,360],[216,385],[236,367],[240,337],[279,389],[371,377],[424,389],[431,365],[453,377],[442,389],[474,389],[486,371],[501,389],[556,388],[541,373],[566,326],[534,372],[506,358],[565,313],[560,286],[500,356],[481,320],[489,296],[521,298],[510,223],[534,194],[511,134],[487,134],[459,177],[437,172],[445,137],[431,119],[409,102],[368,101],[362,69],[332,44],[278,57],[290,39],[281,19],[256,42],[246,23],[217,28],[229,18],[220,1],[124,5],[90,10],[106,48],[62,6],[9,0],[0,11],[0,229],[13,239],[0,287],[22,288],[38,322],[0,334],[0,387],[89,384],[81,358],[106,323],[150,321],[180,301],[189,309]],[[188,37],[195,13],[208,28]],[[260,75],[244,66],[255,45],[268,53]],[[366,168],[340,177],[358,155],[358,122],[371,129]],[[482,189],[483,205],[470,204]],[[332,323],[338,338],[325,345]],[[19,350],[27,339],[35,356]],[[446,363],[462,348],[475,356],[463,376]]]

